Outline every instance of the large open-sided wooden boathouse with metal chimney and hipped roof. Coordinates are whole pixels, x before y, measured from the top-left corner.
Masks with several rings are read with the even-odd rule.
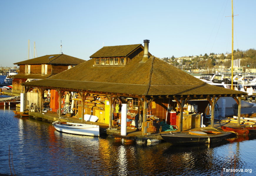
[[[220,97],[236,100],[240,124],[241,96],[247,93],[207,84],[151,55],[148,46],[149,40],[144,40],[144,46],[105,46],[87,62],[22,85],[26,92],[39,89],[40,109],[45,90],[54,89],[59,97],[71,92],[72,101],[77,102],[73,115],[81,122],[86,114],[97,116],[109,128],[120,125],[121,106],[127,104],[127,126],[143,135],[159,132],[162,121],[179,131],[200,127],[208,104],[213,127],[215,102]]]

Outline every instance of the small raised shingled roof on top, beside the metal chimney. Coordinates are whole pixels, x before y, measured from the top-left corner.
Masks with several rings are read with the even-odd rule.
[[[119,46],[104,46],[90,57],[126,57],[133,50],[142,46],[141,44],[134,45],[119,45]],[[142,46],[143,47],[143,46]]]

